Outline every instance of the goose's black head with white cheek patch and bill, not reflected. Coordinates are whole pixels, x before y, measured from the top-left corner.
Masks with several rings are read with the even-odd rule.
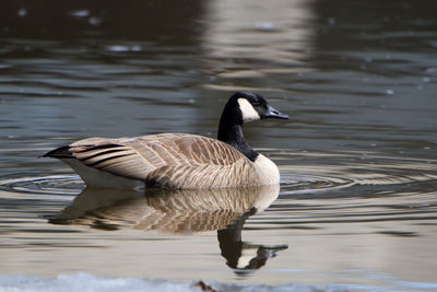
[[[233,118],[240,125],[265,118],[288,118],[287,115],[271,106],[264,97],[249,91],[239,91],[231,96],[225,110],[233,112]]]

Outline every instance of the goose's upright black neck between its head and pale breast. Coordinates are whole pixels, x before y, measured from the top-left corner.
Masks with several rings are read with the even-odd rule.
[[[218,140],[236,148],[251,161],[258,156],[255,151],[245,140],[243,136],[243,117],[237,104],[232,104],[229,101],[223,109],[218,125]]]

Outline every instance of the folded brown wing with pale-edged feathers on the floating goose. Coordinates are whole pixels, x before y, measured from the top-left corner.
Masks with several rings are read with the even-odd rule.
[[[91,138],[70,144],[69,151],[86,166],[173,188],[229,186],[226,177],[252,167],[233,147],[186,133]]]

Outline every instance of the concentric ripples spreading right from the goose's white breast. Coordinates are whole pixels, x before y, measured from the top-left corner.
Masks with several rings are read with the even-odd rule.
[[[282,195],[351,186],[401,187],[414,183],[437,183],[437,160],[335,151],[267,152],[280,165]]]

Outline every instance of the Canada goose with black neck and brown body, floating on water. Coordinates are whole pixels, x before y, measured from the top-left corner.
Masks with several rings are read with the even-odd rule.
[[[279,184],[277,166],[245,140],[241,126],[287,119],[259,94],[237,92],[223,109],[216,139],[192,133],[88,138],[43,156],[60,159],[88,187],[222,188]]]

